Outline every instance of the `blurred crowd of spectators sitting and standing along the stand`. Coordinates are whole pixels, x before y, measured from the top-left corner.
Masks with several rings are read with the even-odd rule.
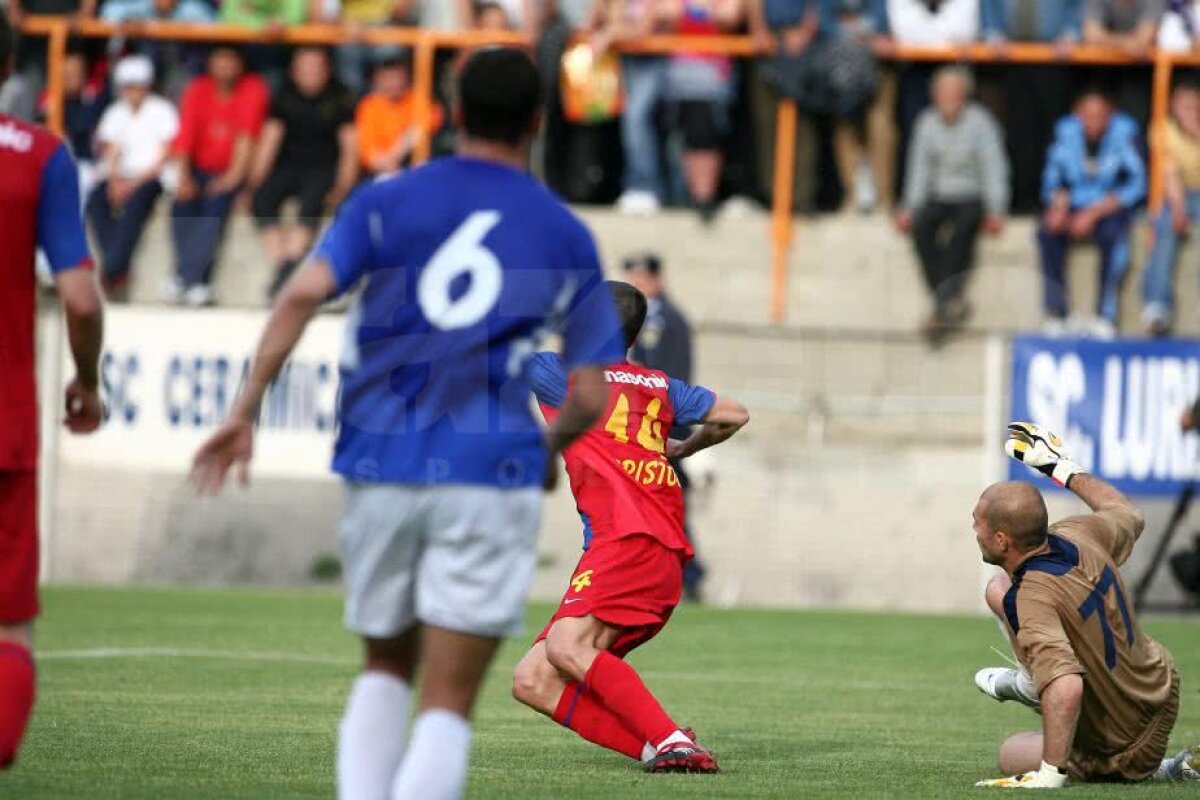
[[[546,112],[535,170],[574,203],[624,213],[696,210],[704,224],[770,201],[780,97],[799,109],[798,213],[887,213],[911,236],[931,297],[932,343],[971,317],[964,288],[982,235],[1039,215],[1048,332],[1114,335],[1130,231],[1147,196],[1148,65],[1066,61],[968,70],[905,62],[898,47],[1090,43],[1144,58],[1200,47],[1190,0],[7,0],[16,19],[70,14],[118,25],[71,41],[65,127],[110,295],[160,201],[176,251],[166,300],[215,301],[212,272],[232,213],[252,215],[276,275],[362,180],[402,170],[416,130],[413,59],[373,47],[372,26],[512,30],[535,42]],[[148,41],[145,20],[230,23],[248,46]],[[288,48],[271,31],[336,23],[348,43]],[[626,55],[623,38],[746,34],[758,55]],[[25,37],[0,112],[44,114],[46,40]],[[427,118],[434,152],[454,148],[455,53],[439,59]],[[1152,218],[1142,325],[1174,320],[1180,237],[1200,217],[1200,83],[1177,71],[1165,132],[1166,201]],[[294,215],[284,215],[295,207]],[[1099,253],[1097,307],[1069,314],[1074,242]]]

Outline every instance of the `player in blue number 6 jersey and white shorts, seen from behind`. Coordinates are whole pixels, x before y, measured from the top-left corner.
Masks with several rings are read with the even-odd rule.
[[[600,366],[624,356],[592,236],[526,173],[539,85],[518,50],[472,56],[457,157],[347,200],[282,289],[230,419],[193,464],[205,493],[233,467],[245,481],[268,385],[318,307],[361,284],[334,455],[346,620],[366,644],[341,726],[343,800],[461,796],[475,696],[500,637],[521,626],[547,451],[595,421],[608,399]],[[544,434],[521,374],[551,330],[571,392]]]

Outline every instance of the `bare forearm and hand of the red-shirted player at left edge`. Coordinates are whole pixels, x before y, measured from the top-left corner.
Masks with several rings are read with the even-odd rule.
[[[104,408],[100,399],[100,354],[104,342],[104,300],[91,269],[59,272],[54,279],[76,377],[67,385],[64,407],[71,433],[91,433],[100,427]]]

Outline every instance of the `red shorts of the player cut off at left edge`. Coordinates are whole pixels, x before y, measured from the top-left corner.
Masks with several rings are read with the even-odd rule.
[[[37,616],[37,471],[0,471],[0,625]]]

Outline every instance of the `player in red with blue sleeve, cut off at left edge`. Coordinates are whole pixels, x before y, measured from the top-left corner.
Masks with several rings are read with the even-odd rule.
[[[0,8],[0,84],[12,70],[13,42]],[[103,301],[83,230],[78,172],[58,137],[0,114],[0,769],[16,760],[34,708],[38,247],[58,284],[76,365],[66,391],[66,426],[72,433],[90,433],[103,415]]]

